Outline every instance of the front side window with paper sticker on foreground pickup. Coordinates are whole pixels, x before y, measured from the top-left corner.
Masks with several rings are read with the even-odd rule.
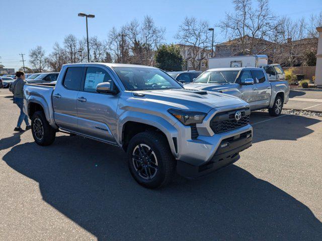
[[[96,86],[99,83],[109,82],[113,90],[113,80],[111,76],[102,68],[88,67],[85,75],[84,91],[96,92]]]

